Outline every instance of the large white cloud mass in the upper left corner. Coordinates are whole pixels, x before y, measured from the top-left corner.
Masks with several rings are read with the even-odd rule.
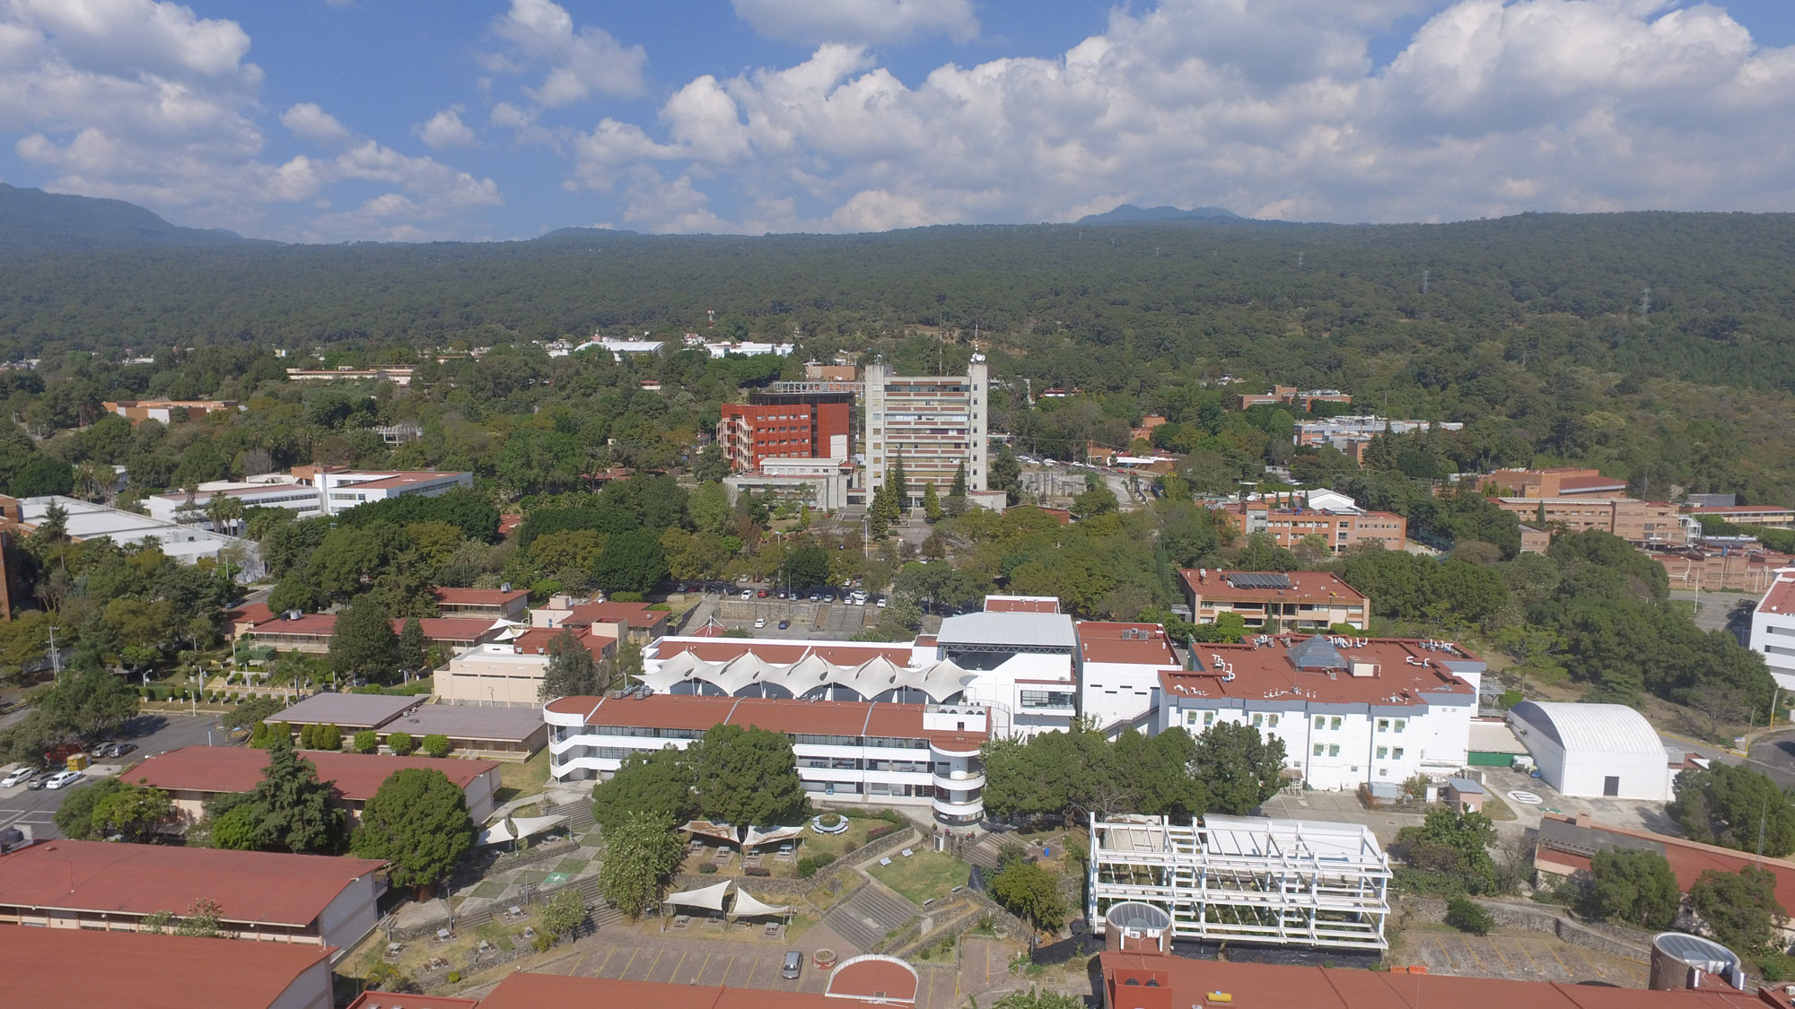
[[[248,52],[241,25],[180,4],[0,0],[0,133],[16,135],[14,153],[48,172],[48,189],[255,235],[445,237],[503,203],[492,180],[357,138],[314,102],[278,120],[332,154],[266,160],[262,70]],[[343,183],[388,192],[372,208],[307,217]]]

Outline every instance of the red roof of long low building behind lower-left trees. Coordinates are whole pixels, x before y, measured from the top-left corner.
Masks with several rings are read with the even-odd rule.
[[[384,754],[343,754],[302,750],[318,777],[336,785],[352,803],[366,803],[395,772],[429,768],[443,772],[458,788],[467,788],[481,774],[499,768],[495,759],[433,759]],[[171,792],[250,792],[262,781],[267,750],[250,747],[181,747],[153,756],[124,772],[126,781],[147,781]]]

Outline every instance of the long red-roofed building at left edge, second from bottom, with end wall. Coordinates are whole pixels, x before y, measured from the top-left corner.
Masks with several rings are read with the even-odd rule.
[[[350,948],[384,889],[373,858],[45,840],[0,855],[0,923],[133,932],[156,912],[219,905],[232,939]],[[0,998],[4,1002],[4,998]]]

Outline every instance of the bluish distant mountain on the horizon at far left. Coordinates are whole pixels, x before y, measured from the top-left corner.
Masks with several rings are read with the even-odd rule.
[[[0,183],[0,251],[241,246],[230,232],[181,228],[122,199],[59,196]]]

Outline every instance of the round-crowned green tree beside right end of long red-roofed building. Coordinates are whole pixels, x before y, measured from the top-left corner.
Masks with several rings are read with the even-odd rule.
[[[391,864],[395,885],[425,891],[474,846],[467,795],[434,768],[395,770],[368,799],[350,849]]]

